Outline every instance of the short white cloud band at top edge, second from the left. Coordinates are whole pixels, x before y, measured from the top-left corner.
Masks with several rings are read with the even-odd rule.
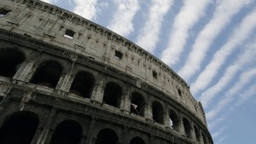
[[[113,14],[113,20],[110,21],[108,28],[121,36],[127,36],[133,32],[132,20],[137,10],[140,8],[137,0],[114,0],[118,9]]]

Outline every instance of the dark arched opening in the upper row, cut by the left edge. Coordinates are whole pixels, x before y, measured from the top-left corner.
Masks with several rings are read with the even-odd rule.
[[[0,76],[13,78],[24,60],[25,56],[17,49],[0,49]]]

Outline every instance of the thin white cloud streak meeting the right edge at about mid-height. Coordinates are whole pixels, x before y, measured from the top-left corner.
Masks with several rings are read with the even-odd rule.
[[[243,89],[243,87],[248,84],[251,79],[253,79],[256,76],[256,69],[252,69],[250,71],[244,72],[241,74],[239,81],[224,94],[224,97],[221,99],[221,101],[218,102],[218,105],[216,107],[213,107],[210,112],[207,112],[207,119],[213,120],[218,112],[220,112],[224,107],[229,106],[228,104],[230,101],[233,100],[233,98],[237,95],[237,93]]]

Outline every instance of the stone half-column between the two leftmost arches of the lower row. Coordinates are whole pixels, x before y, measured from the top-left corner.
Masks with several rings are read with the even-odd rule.
[[[50,133],[53,133],[53,130],[50,130],[50,127],[51,127],[51,124],[53,123],[53,119],[55,118],[55,113],[56,113],[56,109],[52,108],[51,111],[49,112],[49,117],[44,124],[44,128],[43,128],[41,134],[33,138],[32,141],[35,141],[33,143],[47,144],[49,142],[46,140],[49,139],[48,135]],[[51,137],[51,135],[50,135],[50,137]]]

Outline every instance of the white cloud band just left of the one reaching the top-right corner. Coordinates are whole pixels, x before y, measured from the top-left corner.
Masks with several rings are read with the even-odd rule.
[[[161,60],[167,65],[174,65],[179,61],[183,47],[189,37],[189,30],[205,14],[205,9],[210,0],[186,0],[183,8],[177,14],[172,26],[167,48],[163,51]]]

